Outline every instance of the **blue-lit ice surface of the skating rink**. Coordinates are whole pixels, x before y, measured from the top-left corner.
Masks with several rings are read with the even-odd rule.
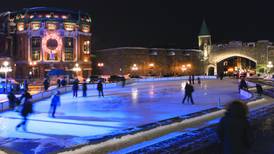
[[[105,89],[105,97],[61,96],[56,118],[48,116],[50,100],[35,103],[28,131],[16,131],[17,112],[0,114],[0,147],[23,153],[47,153],[86,143],[88,138],[121,131],[178,115],[215,107],[239,99],[235,80],[208,80],[195,84],[194,105],[182,104],[185,81],[141,82],[125,88]],[[28,146],[26,146],[26,142]]]

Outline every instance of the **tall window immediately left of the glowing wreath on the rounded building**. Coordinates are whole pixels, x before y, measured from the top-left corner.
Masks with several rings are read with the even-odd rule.
[[[31,38],[31,59],[32,61],[40,60],[41,53],[41,38],[32,37]]]

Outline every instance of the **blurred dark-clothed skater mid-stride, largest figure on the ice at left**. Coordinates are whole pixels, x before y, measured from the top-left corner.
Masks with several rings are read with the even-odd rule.
[[[25,100],[24,100],[23,108],[21,110],[21,116],[23,117],[23,121],[16,126],[16,130],[20,128],[21,126],[23,126],[23,130],[27,131],[28,116],[29,114],[33,112],[32,102],[31,102],[32,96],[30,95],[30,93],[26,92],[24,94],[24,98]]]

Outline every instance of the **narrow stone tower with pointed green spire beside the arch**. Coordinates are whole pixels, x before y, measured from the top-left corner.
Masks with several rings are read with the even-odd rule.
[[[207,60],[211,51],[211,35],[208,31],[205,20],[203,20],[200,33],[198,35],[198,43],[199,49],[203,50],[204,60]]]

